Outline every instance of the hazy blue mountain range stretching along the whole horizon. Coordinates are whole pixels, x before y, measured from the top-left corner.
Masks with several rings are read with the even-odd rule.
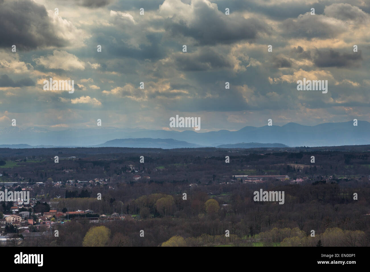
[[[146,138],[146,140],[139,140]],[[150,140],[149,140],[150,139]],[[147,142],[145,144],[145,141]],[[280,143],[296,146],[338,146],[370,144],[370,123],[353,121],[324,123],[314,126],[288,123],[283,126],[243,127],[238,131],[219,130],[196,132],[192,130],[167,131],[144,128],[96,127],[68,130],[47,130],[31,127],[1,127],[0,144],[28,144],[55,147],[241,147],[243,143]],[[237,145],[235,145],[237,144]],[[153,146],[148,146],[153,145]],[[1,146],[0,146],[1,147]],[[263,146],[255,146],[263,147]],[[19,148],[19,147],[18,147]]]

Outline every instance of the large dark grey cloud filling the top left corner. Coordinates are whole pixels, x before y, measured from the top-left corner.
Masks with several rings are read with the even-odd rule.
[[[68,43],[55,34],[46,9],[30,0],[0,3],[0,47],[13,44],[25,49],[65,46]]]

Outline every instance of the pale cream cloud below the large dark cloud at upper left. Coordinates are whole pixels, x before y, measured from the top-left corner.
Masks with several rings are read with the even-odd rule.
[[[47,57],[35,58],[34,61],[38,65],[42,65],[49,69],[63,69],[63,70],[84,70],[85,63],[80,61],[78,57],[67,51],[54,50],[53,55]]]

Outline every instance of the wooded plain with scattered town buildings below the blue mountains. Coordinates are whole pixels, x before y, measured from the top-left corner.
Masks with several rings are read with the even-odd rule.
[[[1,148],[0,192],[17,199],[0,202],[0,243],[95,245],[87,234],[96,226],[111,237],[100,246],[165,245],[178,233],[190,246],[286,246],[293,229],[303,239],[313,228],[314,245],[333,243],[330,228],[369,245],[369,146],[339,149]],[[283,229],[290,234],[271,236]]]

